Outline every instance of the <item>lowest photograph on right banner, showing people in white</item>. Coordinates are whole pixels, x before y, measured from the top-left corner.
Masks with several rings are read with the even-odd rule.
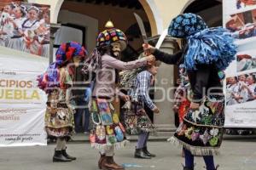
[[[226,105],[256,100],[256,72],[226,78]]]

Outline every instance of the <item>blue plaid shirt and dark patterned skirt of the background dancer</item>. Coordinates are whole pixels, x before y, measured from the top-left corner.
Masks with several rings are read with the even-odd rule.
[[[145,55],[141,54],[139,59],[143,57]],[[153,132],[153,122],[144,109],[144,105],[148,105],[151,109],[154,107],[148,95],[148,89],[153,86],[151,73],[138,68],[133,71],[120,72],[120,78],[121,87],[129,89],[128,94],[131,96],[131,100],[123,106],[126,133],[134,135]]]

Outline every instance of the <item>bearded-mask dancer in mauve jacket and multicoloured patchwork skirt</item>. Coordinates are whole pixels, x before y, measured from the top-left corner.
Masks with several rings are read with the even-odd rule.
[[[125,34],[119,29],[109,28],[100,32],[95,50],[84,62],[84,75],[90,77],[90,73],[93,73],[93,77],[96,77],[90,108],[93,122],[90,143],[92,147],[100,150],[98,167],[104,170],[124,169],[113,161],[114,149],[119,149],[127,143],[125,128],[119,122],[119,115],[112,104],[115,95],[124,100],[129,99],[117,86],[118,71],[136,69],[147,63],[151,64],[154,60],[153,56],[148,56],[131,62],[120,61],[120,52],[126,48],[126,45]]]

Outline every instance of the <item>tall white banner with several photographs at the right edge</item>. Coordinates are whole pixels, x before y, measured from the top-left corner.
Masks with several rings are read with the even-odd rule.
[[[223,14],[238,46],[224,82],[225,127],[256,127],[256,1],[223,1]]]

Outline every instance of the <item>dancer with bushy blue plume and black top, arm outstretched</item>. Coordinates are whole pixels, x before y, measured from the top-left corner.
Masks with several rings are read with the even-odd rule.
[[[224,71],[235,59],[234,39],[224,28],[207,28],[196,14],[180,14],[174,18],[169,35],[186,41],[182,59],[177,54],[143,47],[167,64],[183,60],[188,72],[193,98],[183,123],[170,140],[183,147],[184,170],[194,169],[194,155],[203,156],[207,170],[215,170],[213,154],[218,153],[224,132],[224,94],[218,72]]]

